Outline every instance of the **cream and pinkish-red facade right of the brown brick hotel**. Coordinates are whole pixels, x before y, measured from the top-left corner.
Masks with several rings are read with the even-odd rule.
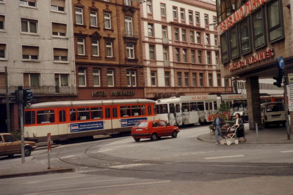
[[[162,0],[141,4],[146,98],[224,92],[215,4]]]

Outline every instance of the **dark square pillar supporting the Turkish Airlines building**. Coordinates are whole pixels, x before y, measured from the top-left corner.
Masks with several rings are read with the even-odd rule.
[[[258,76],[251,76],[246,78],[246,94],[249,129],[255,130],[256,123],[258,129],[262,129]]]

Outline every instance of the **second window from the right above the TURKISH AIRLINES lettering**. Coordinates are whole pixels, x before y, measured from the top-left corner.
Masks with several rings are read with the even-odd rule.
[[[252,19],[252,34],[253,34],[253,47],[254,49],[265,46],[265,33],[264,33],[264,14],[263,8],[255,12],[251,17]]]

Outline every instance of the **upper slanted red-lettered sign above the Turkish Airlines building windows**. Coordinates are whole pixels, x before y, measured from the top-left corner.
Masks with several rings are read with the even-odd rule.
[[[244,17],[248,16],[256,10],[258,7],[263,5],[265,2],[270,0],[249,0],[242,7],[240,7],[236,12],[234,12],[231,16],[227,17],[220,24],[220,33],[225,32],[228,28],[242,20]]]

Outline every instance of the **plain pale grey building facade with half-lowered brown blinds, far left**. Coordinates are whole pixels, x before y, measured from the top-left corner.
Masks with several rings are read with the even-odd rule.
[[[0,1],[0,124],[6,129],[5,74],[9,91],[24,86],[32,103],[77,97],[70,0]],[[17,105],[10,102],[11,130],[18,129]]]

